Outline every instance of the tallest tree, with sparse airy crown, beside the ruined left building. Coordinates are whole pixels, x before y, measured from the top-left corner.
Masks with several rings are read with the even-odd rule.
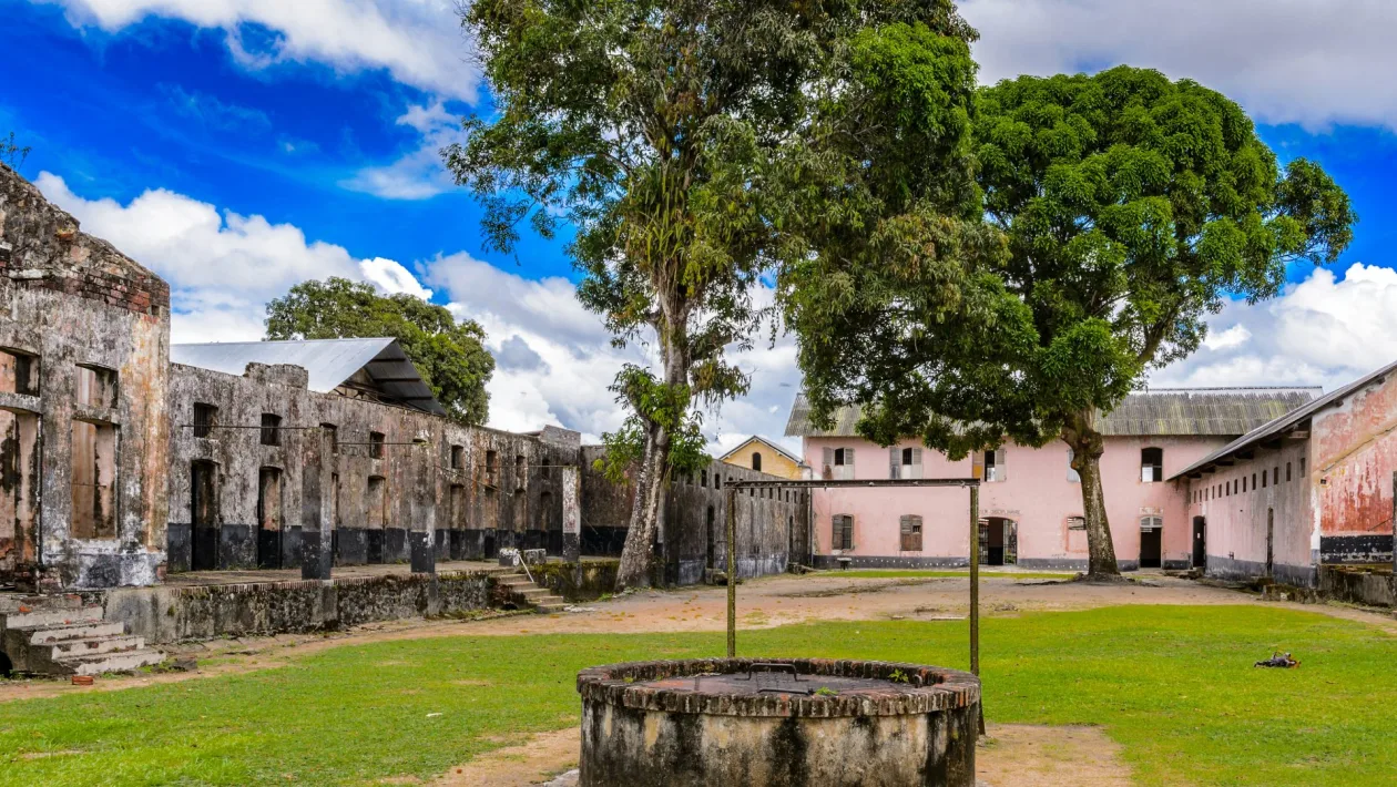
[[[766,316],[759,278],[859,235],[863,178],[968,187],[974,31],[950,0],[476,0],[462,21],[493,112],[444,152],[489,242],[567,224],[583,302],[617,342],[654,341],[658,373],[622,372],[630,421],[609,436],[636,467],[617,584],[644,584],[696,404],[747,389],[725,352]],[[902,143],[928,143],[905,175],[880,158],[911,161]]]

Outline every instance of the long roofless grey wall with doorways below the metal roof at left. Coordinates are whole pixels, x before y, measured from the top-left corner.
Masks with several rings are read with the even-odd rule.
[[[193,429],[196,404],[217,408],[207,436]],[[302,533],[319,527],[321,512],[338,565],[407,563],[415,538],[427,541],[436,561],[493,558],[504,547],[562,551],[555,486],[560,465],[577,461],[566,440],[465,428],[415,410],[316,393],[299,368],[258,363],[242,376],[173,365],[169,408],[176,422],[170,570],[296,568]],[[263,414],[281,418],[279,445],[263,445]],[[332,439],[321,425],[334,426]],[[372,456],[370,433],[384,436],[381,459]],[[197,526],[194,463],[207,463],[217,475],[217,505],[205,517],[212,521]],[[320,470],[319,489],[306,484],[307,463]],[[264,468],[281,479],[279,527],[258,517]],[[306,505],[307,493],[321,496],[319,510]]]

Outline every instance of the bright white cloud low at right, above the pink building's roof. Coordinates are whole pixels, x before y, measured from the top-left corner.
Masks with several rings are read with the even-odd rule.
[[[1316,268],[1273,301],[1229,303],[1192,356],[1154,384],[1315,384],[1334,389],[1397,359],[1397,271]]]

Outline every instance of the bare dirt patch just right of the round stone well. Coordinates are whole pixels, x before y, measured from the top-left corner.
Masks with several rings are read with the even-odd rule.
[[[975,752],[983,787],[1129,787],[1120,746],[1098,727],[990,724]]]

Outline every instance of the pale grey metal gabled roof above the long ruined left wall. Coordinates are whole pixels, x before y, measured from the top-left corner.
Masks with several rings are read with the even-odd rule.
[[[386,397],[446,415],[397,340],[387,337],[172,344],[170,361],[225,375],[242,375],[249,363],[289,363],[305,369],[307,387],[319,393],[335,390],[363,369]]]

